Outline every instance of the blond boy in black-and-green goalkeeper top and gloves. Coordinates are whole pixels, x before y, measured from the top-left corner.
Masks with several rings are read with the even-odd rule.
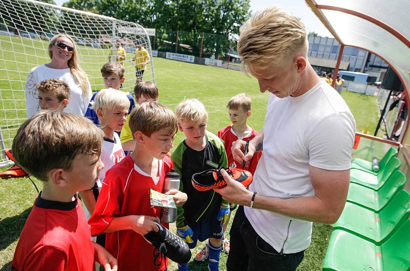
[[[178,207],[177,234],[191,249],[197,241],[209,238],[209,269],[219,269],[222,224],[229,215],[229,202],[214,190],[199,192],[191,184],[192,175],[207,169],[227,168],[227,154],[222,141],[207,131],[208,113],[196,99],[188,99],[176,107],[178,128],[185,133],[171,158],[175,170],[181,175],[180,191],[187,193],[188,201]],[[204,258],[199,259],[203,261]],[[187,264],[178,264],[178,270],[188,270]]]

